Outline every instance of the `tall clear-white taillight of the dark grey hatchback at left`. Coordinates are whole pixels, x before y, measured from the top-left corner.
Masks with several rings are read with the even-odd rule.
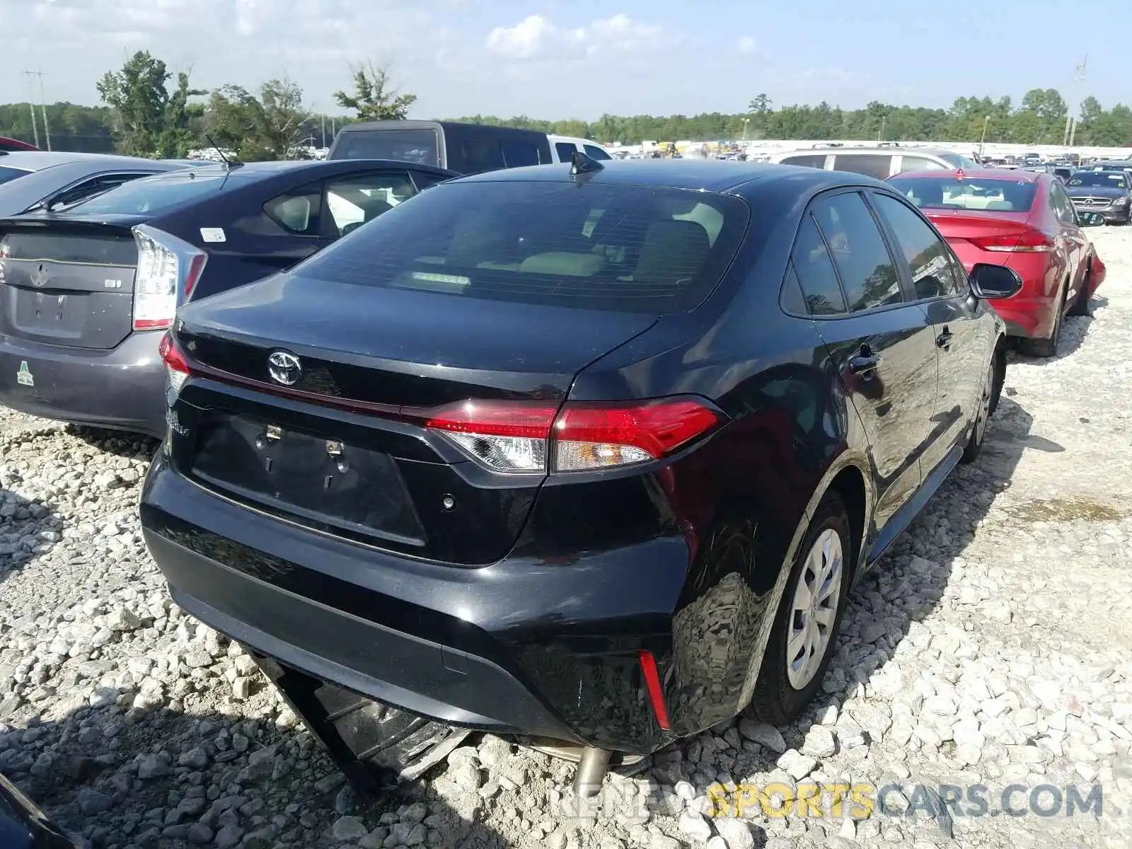
[[[175,235],[139,224],[134,228],[138,266],[134,276],[134,329],[169,327],[183,294],[192,291],[208,255]]]

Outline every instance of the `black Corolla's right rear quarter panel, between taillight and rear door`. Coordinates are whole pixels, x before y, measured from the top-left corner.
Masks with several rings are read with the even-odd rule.
[[[669,711],[679,734],[734,717],[749,702],[809,515],[838,471],[868,469],[860,421],[813,321],[779,307],[800,208],[762,211],[762,221],[781,215],[786,224],[753,224],[761,232],[715,295],[692,315],[661,318],[578,375],[571,393],[588,400],[696,394],[730,417],[706,444],[621,484],[618,496],[653,514],[652,533],[683,537],[688,548],[687,575],[671,600],[671,648],[658,655],[662,679],[672,676]],[[866,491],[869,509],[869,483]],[[578,528],[608,525],[610,500],[592,495],[573,505],[590,514]],[[537,511],[548,497],[554,503],[543,487]],[[564,542],[565,549],[594,544],[581,532]]]

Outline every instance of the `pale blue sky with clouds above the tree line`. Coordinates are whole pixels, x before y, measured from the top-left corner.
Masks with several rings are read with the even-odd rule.
[[[1018,5],[1019,7],[1021,5]],[[1030,0],[1024,17],[937,0],[0,0],[0,102],[96,103],[134,50],[201,87],[288,74],[319,111],[349,62],[387,61],[412,117],[741,111],[826,100],[947,106],[957,96],[1058,88],[1089,51],[1082,94],[1132,104],[1130,31],[1114,0]],[[1071,10],[1072,15],[1066,15]],[[1116,16],[1120,18],[1120,16]],[[1077,22],[1080,22],[1079,24]],[[1109,22],[1109,25],[1103,22]],[[1087,37],[1073,37],[1080,26]]]

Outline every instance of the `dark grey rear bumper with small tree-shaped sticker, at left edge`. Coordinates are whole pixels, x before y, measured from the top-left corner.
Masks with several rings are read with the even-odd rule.
[[[134,333],[117,348],[100,351],[0,337],[0,404],[160,439],[165,431],[160,340],[160,332]],[[19,379],[25,362],[31,385]]]

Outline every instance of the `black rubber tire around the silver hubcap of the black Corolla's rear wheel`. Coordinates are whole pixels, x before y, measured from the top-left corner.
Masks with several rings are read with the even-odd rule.
[[[840,564],[837,567],[835,602],[832,593],[826,598],[822,609],[832,616],[827,621],[826,631],[823,633],[824,640],[821,642],[821,657],[812,661],[806,668],[788,662],[787,646],[790,642],[791,632],[798,633],[797,628],[800,617],[795,616],[795,602],[798,586],[803,577],[814,577],[814,561],[812,555],[815,547],[837,538],[840,547]],[[849,577],[851,563],[851,539],[849,533],[849,517],[846,512],[841,496],[837,492],[826,492],[814,518],[806,530],[801,546],[798,549],[797,559],[790,569],[790,577],[786,584],[782,600],[779,602],[778,614],[774,617],[774,627],[770,640],[766,643],[766,652],[763,655],[762,669],[758,674],[758,681],[755,684],[755,692],[751,697],[748,711],[754,713],[764,722],[774,726],[782,726],[792,720],[806,709],[806,705],[817,694],[825,677],[825,670],[830,666],[833,657],[833,644],[837,642],[838,628],[841,625],[841,617],[844,612],[846,598],[849,590]],[[816,548],[821,552],[821,548]],[[832,558],[831,558],[832,559]],[[815,581],[816,583],[816,581]],[[809,582],[807,581],[807,585]],[[817,618],[809,617],[815,625]],[[821,628],[818,628],[821,631]],[[806,633],[804,629],[801,633]],[[805,641],[803,641],[805,643]],[[797,657],[797,653],[794,653]],[[816,652],[808,652],[809,657],[815,657]],[[801,664],[805,667],[806,664]],[[791,671],[791,669],[794,671]],[[808,677],[807,677],[808,676]]]

